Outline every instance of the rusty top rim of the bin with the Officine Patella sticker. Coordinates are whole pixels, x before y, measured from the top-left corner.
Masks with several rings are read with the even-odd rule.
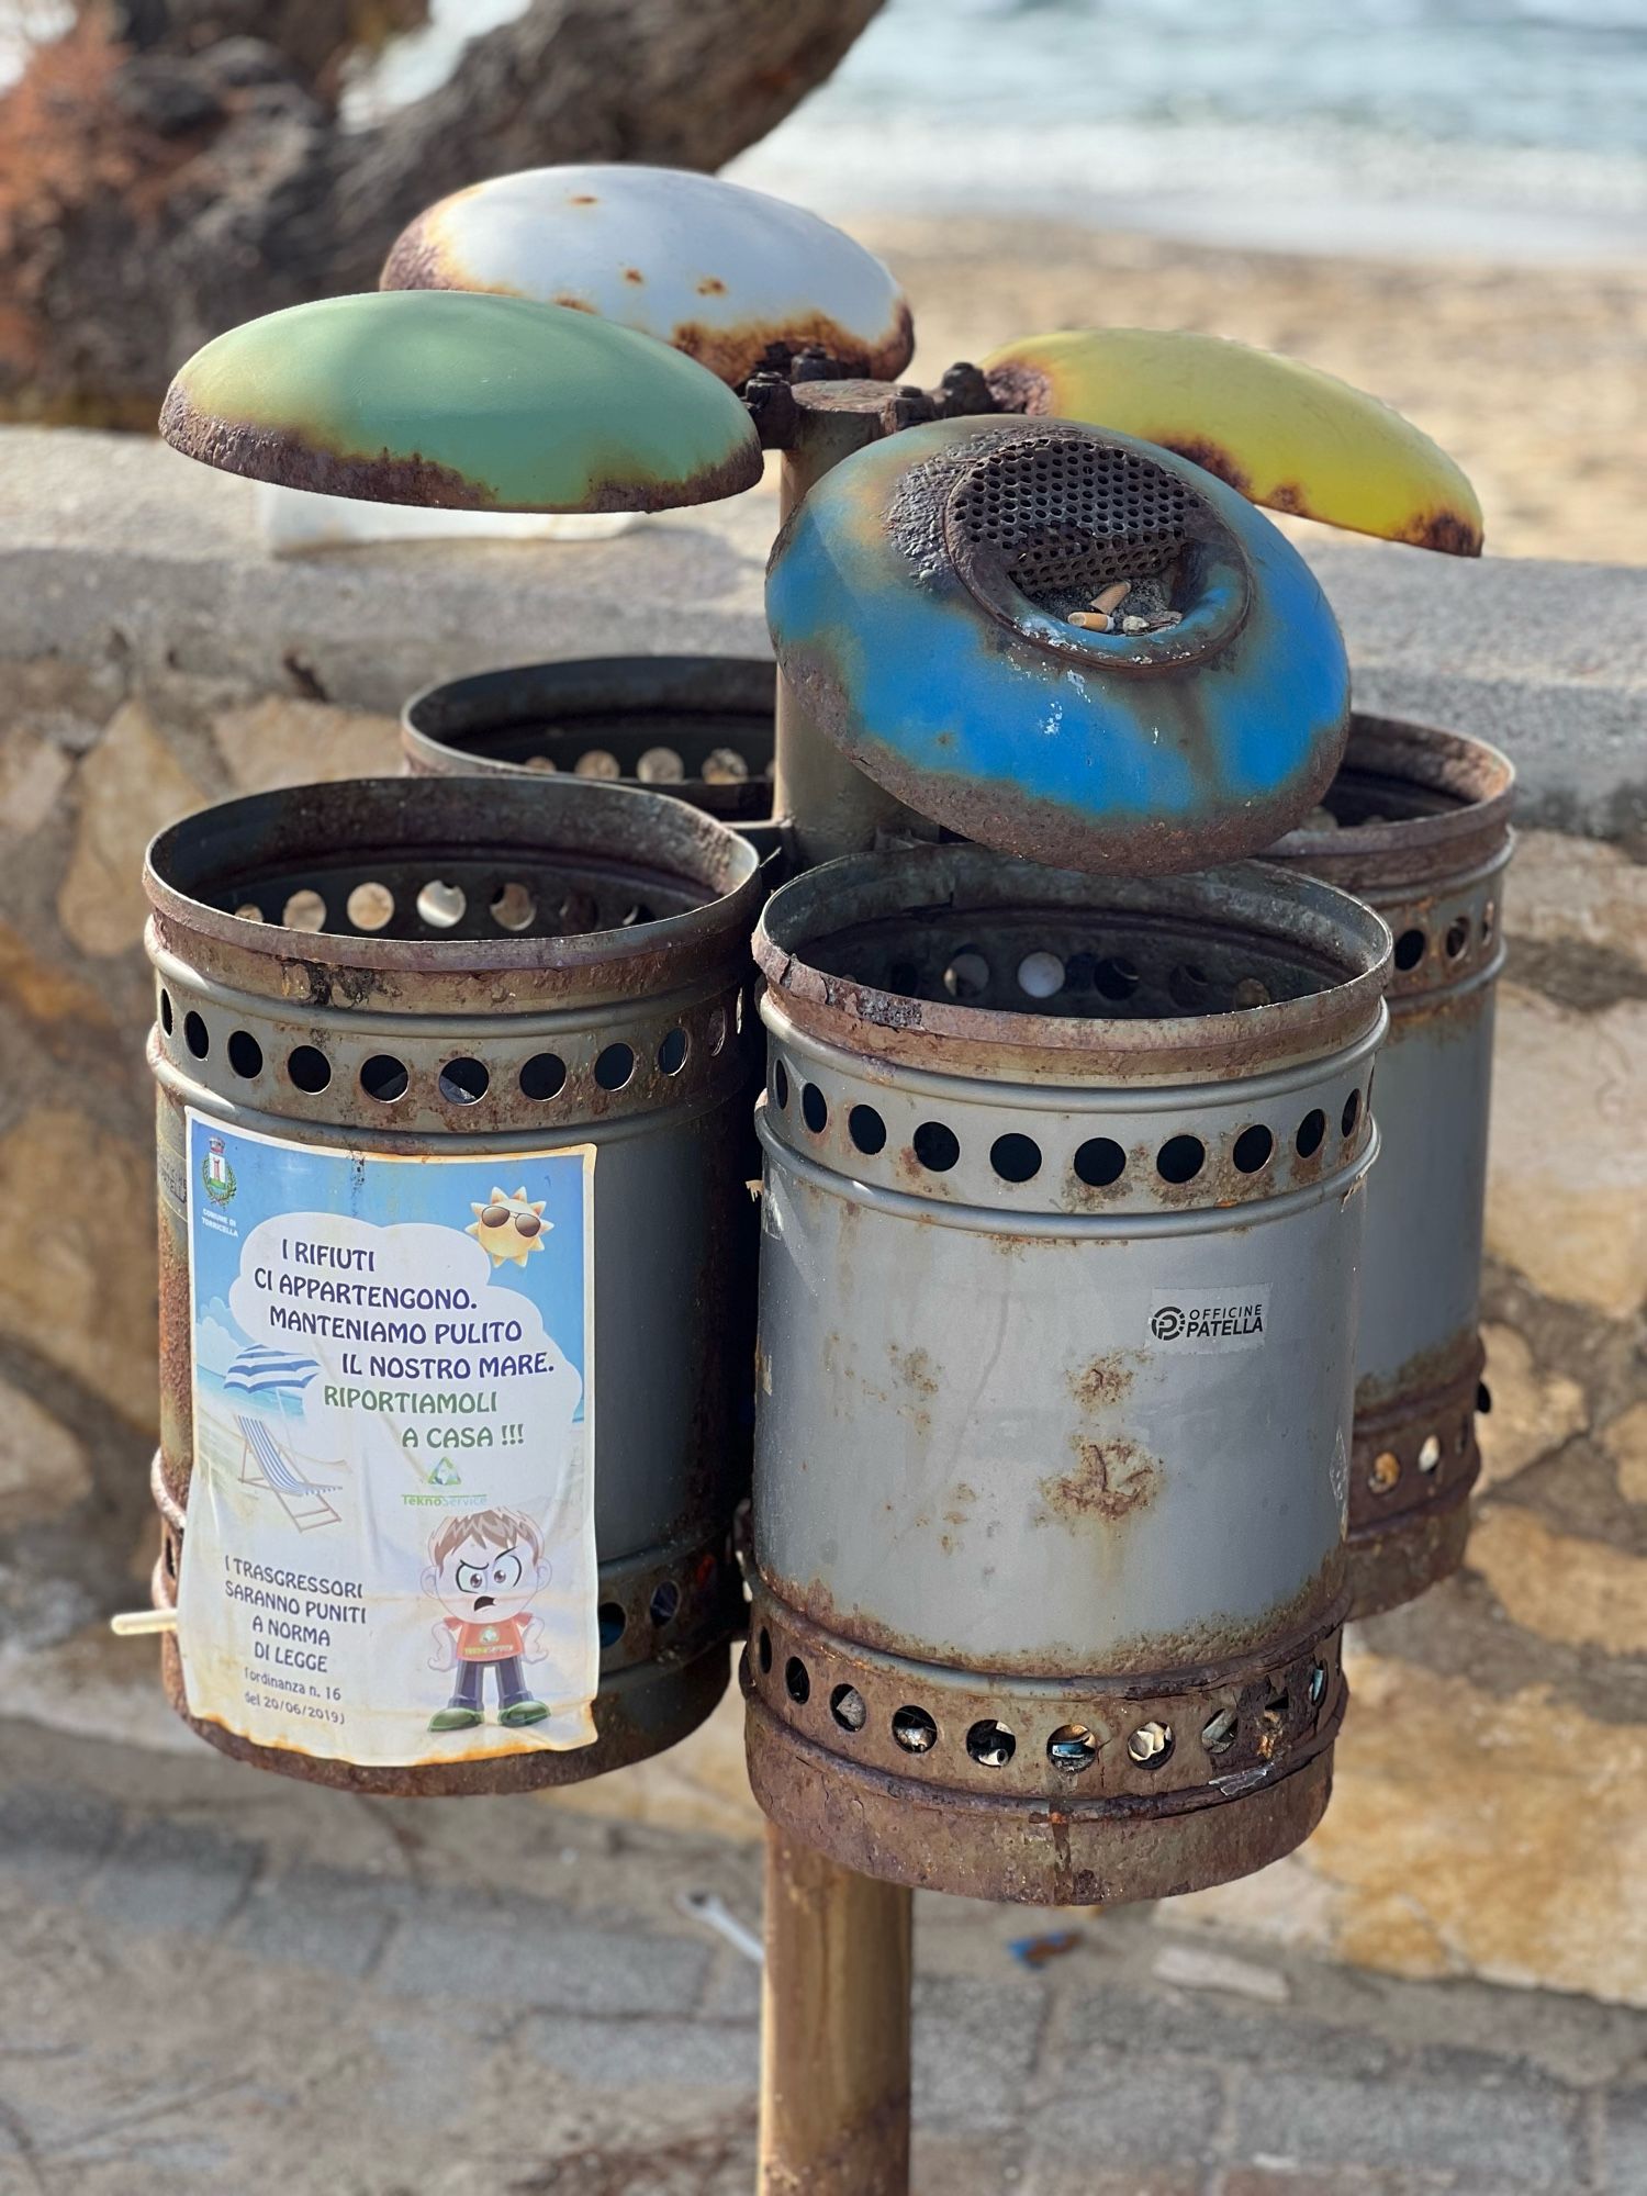
[[[1304,999],[1221,1015],[1091,1019],[911,999],[828,975],[804,960],[804,949],[819,938],[887,916],[916,920],[940,907],[966,914],[1089,909],[1094,916],[1175,920],[1199,914],[1304,955],[1326,982]],[[1287,914],[1291,925],[1278,920]],[[848,854],[824,863],[780,885],[755,927],[755,962],[791,1019],[834,1037],[843,1050],[878,1052],[920,1067],[929,1065],[935,1045],[953,1045],[966,1047],[968,1065],[999,1056],[1001,1072],[1026,1061],[1065,1065],[1076,1054],[1087,1056],[1091,1072],[1159,1080],[1201,1063],[1239,1074],[1243,1061],[1267,1065],[1337,1050],[1351,1032],[1377,1019],[1390,957],[1390,929],[1375,909],[1298,870],[1241,861],[1188,876],[1096,878],[975,845]],[[979,1072],[988,1074],[988,1067]]]

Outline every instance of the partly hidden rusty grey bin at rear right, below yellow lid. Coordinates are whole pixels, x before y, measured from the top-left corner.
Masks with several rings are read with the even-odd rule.
[[[1482,1203],[1515,771],[1456,731],[1357,716],[1324,815],[1271,861],[1394,933],[1351,1447],[1351,1614],[1458,1568],[1480,1471]]]

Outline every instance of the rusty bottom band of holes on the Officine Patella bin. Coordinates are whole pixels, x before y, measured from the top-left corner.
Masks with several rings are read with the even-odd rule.
[[[784,1700],[795,1711],[806,1711],[795,1717],[802,1726],[817,1719],[843,1733],[845,1741],[867,1746],[876,1737],[889,1739],[898,1755],[931,1757],[931,1772],[940,1781],[955,1777],[986,1788],[990,1772],[1015,1761],[1023,1770],[1039,1757],[1047,1770],[1041,1783],[1056,1788],[1076,1781],[1107,1755],[1116,1766],[1124,1757],[1129,1772],[1122,1772],[1122,1781],[1133,1788],[1146,1788],[1173,1763],[1168,1785],[1181,1790],[1225,1774],[1232,1761],[1271,1761],[1287,1744],[1307,1739],[1329,1706],[1335,1645],[1322,1643],[1298,1662],[1241,1689],[1210,1689],[1199,1700],[1186,1695],[1153,1713],[1146,1706],[1131,1713],[1118,1706],[1100,1728],[1080,1715],[1061,1715],[1056,1706],[1026,1708],[1023,1702],[1001,1702],[990,1713],[975,1713],[973,1704],[953,1719],[944,1702],[933,1700],[887,1693],[872,1704],[865,1698],[867,1678],[841,1680],[826,1669],[828,1658],[813,1660],[808,1651],[775,1647],[771,1623],[758,1623],[749,1660],[753,1669],[744,1667],[744,1684],[755,1687],[755,1669],[762,1678],[780,1671]],[[1091,1715],[1091,1708],[1085,1713]],[[962,1755],[984,1774],[962,1770]],[[1015,1788],[1021,1783],[1019,1774]]]

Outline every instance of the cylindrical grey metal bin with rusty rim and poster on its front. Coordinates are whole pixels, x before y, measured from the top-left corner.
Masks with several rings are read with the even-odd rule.
[[[720,1698],[742,1623],[729,1528],[753,1353],[740,1164],[753,850],[681,802],[619,786],[360,780],[206,808],[154,841],[145,885],[160,1146],[156,1599],[180,1605],[182,1651],[165,1645],[178,1713],[239,1759],[402,1794],[578,1781],[674,1744]],[[257,1219],[264,1170],[270,1197],[290,1184],[288,1206],[303,1206],[290,1232]],[[382,1245],[380,1263],[349,1247],[367,1243]],[[400,1287],[413,1267],[417,1285]],[[470,1309],[444,1287],[466,1274]],[[231,1320],[239,1333],[224,1340]],[[520,1528],[527,1506],[507,1498],[549,1456],[551,1421],[567,1484],[589,1489],[582,1572],[578,1520],[551,1561],[542,1524]],[[338,1427],[371,1434],[367,1463]],[[288,1689],[259,1693],[257,1715],[239,1713],[239,1695],[198,1713],[187,1691],[191,1667],[222,1691],[217,1601],[189,1660],[191,1487],[237,1504],[244,1533],[281,1550],[248,1561],[224,1542],[211,1579],[195,1577],[200,1592],[222,1586],[224,1610],[233,1601],[222,1651],[235,1682],[244,1667],[248,1689]],[[468,1557],[446,1546],[450,1522],[477,1526]],[[220,1526],[213,1511],[215,1539]],[[545,1544],[523,1546],[523,1531]],[[413,1623],[415,1566],[373,1594],[371,1546],[393,1533],[417,1546],[430,1535],[424,1590],[437,1599],[441,1566],[494,1564],[459,1577],[472,1607],[448,1616],[439,1601]],[[498,1583],[523,1561],[525,1588]],[[505,1618],[534,1566],[540,1634]],[[343,1698],[332,1715],[347,1682],[301,1660],[365,1654],[305,1634],[376,1627],[380,1614],[382,1654],[408,1643],[393,1682],[422,1702],[395,1711],[395,1730],[417,1733],[400,1750],[332,1733],[327,1717],[351,1713]],[[496,1724],[479,1665],[446,1665],[446,1708],[444,1680],[422,1676],[444,1667],[448,1636],[459,1658],[492,1656]],[[569,1658],[586,1643],[584,1717],[597,1658],[593,1744],[525,1744],[547,1713],[529,1698],[534,1640],[564,1640]],[[498,1660],[509,1649],[516,1665]],[[274,1678],[253,1658],[296,1673]]]

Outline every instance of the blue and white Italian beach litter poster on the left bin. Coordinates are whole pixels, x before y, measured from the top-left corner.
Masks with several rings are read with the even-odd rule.
[[[189,1111],[193,1715],[371,1766],[593,1741],[593,1170]]]

